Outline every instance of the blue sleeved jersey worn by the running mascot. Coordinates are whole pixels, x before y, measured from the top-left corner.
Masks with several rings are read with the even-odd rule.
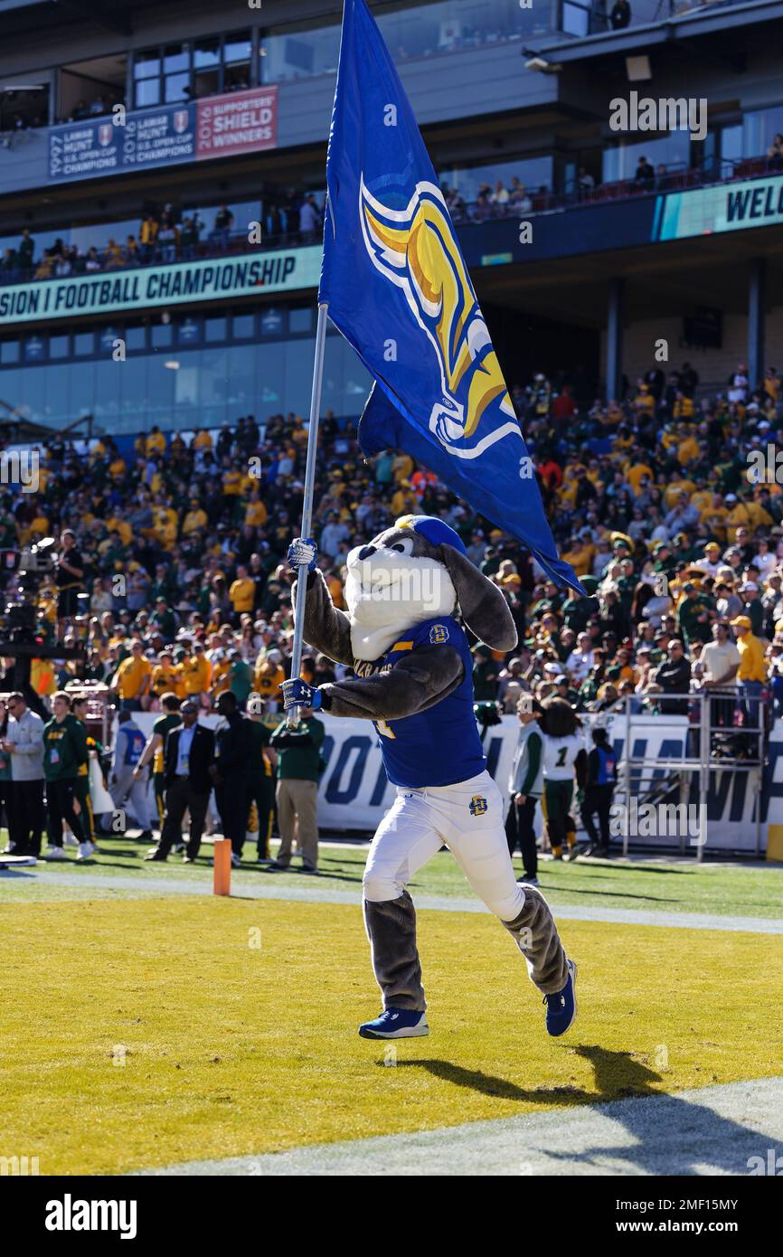
[[[426,711],[400,720],[373,720],[386,776],[393,786],[454,786],[486,768],[473,714],[473,656],[464,630],[451,616],[424,620],[396,641],[375,664],[357,665],[357,676],[388,672],[416,646],[451,646],[465,675],[455,690]]]

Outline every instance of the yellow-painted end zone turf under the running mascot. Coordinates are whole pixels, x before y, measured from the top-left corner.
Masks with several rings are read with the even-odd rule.
[[[0,1155],[112,1174],[779,1075],[783,936],[564,921],[579,1017],[544,1031],[491,918],[422,911],[429,1038],[359,1040],[361,913],[123,900],[4,910]]]

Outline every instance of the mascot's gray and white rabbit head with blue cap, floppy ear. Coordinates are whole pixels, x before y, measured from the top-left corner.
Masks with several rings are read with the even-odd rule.
[[[449,524],[403,515],[347,558],[346,605],[357,659],[376,660],[407,628],[460,612],[493,650],[517,645],[517,628],[500,590],[479,572]]]

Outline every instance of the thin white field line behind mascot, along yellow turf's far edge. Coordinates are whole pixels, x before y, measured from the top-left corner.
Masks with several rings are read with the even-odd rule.
[[[173,870],[172,870],[173,871]],[[233,899],[279,899],[299,904],[351,904],[361,906],[361,891],[339,890],[331,886],[284,886],[279,882],[285,874],[260,874],[269,879],[266,885],[249,885],[241,882],[241,875],[234,874],[231,879]],[[170,877],[152,877],[145,872],[133,876],[122,875],[90,875],[78,870],[73,874],[60,871],[47,871],[43,874],[28,872],[0,874],[0,889],[4,881],[11,884],[29,885],[40,882],[41,885],[55,886],[89,886],[101,890],[129,890],[136,891],[138,899],[146,895],[211,895],[212,881],[185,880],[176,874]],[[446,895],[419,895],[413,890],[416,908],[430,909],[436,913],[486,913],[488,909],[479,899],[450,899]],[[40,904],[41,900],[14,900],[14,903]],[[768,916],[719,916],[710,913],[667,913],[651,911],[641,908],[589,908],[588,905],[552,904],[552,911],[558,920],[564,921],[606,921],[617,925],[659,925],[666,929],[689,930],[721,930],[724,933],[749,933],[749,934],[783,934],[783,920],[774,920]]]

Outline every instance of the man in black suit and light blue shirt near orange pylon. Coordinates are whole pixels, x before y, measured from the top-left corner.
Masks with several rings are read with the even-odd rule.
[[[215,763],[215,734],[199,724],[199,708],[187,699],[180,708],[182,724],[172,729],[166,739],[163,777],[166,783],[166,812],[161,838],[145,857],[167,860],[172,846],[182,835],[182,817],[190,808],[190,841],[183,856],[192,864],[199,855],[206,807],[212,787],[211,768]]]

